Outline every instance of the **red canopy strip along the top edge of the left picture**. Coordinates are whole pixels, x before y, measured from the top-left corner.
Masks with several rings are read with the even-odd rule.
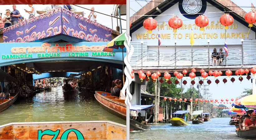
[[[120,4],[125,5],[126,0],[7,0],[0,1],[0,5],[12,4]]]

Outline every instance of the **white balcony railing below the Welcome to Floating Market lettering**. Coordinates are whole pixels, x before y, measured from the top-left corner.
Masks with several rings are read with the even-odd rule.
[[[164,66],[212,66],[212,50],[209,45],[203,49],[191,48],[174,51],[148,50],[147,44],[132,43],[134,53],[131,58],[132,67],[164,67]],[[217,60],[217,65],[255,65],[256,64],[256,40],[244,40],[242,49],[229,48],[228,56],[224,53],[222,63]],[[214,63],[214,65],[216,65]]]

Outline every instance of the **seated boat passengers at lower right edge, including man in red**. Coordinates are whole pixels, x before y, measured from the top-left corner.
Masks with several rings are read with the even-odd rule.
[[[232,116],[236,121],[235,126],[239,126],[237,130],[249,130],[256,128],[256,114],[253,111],[251,114]]]

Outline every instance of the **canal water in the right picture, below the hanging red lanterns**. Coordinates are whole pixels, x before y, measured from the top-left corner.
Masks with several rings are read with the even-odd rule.
[[[235,126],[229,125],[230,118],[212,118],[204,124],[171,126],[153,124],[150,131],[130,132],[130,139],[138,140],[243,140],[238,138]]]

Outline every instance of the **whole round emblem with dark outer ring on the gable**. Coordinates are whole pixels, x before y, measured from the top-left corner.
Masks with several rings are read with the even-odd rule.
[[[196,19],[200,14],[206,10],[206,0],[180,0],[179,10],[186,18]]]

